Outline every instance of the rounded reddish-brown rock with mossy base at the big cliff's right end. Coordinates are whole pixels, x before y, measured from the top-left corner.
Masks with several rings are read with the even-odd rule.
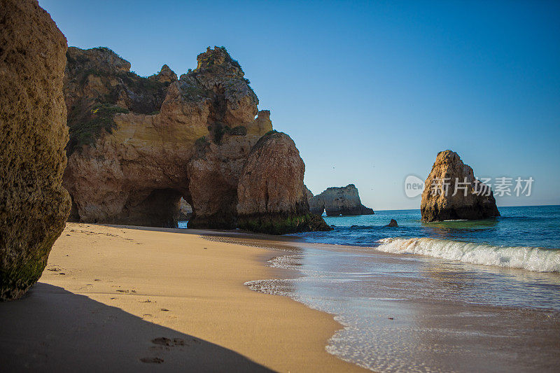
[[[304,171],[290,136],[275,131],[262,136],[239,178],[238,227],[270,234],[331,230],[323,218],[309,213]]]

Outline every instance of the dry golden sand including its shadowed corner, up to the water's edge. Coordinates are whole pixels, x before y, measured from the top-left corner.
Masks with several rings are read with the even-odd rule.
[[[0,366],[33,371],[351,372],[333,316],[244,282],[285,252],[189,230],[67,223],[29,294],[0,304]],[[253,243],[274,246],[273,241]],[[281,243],[285,245],[285,242]]]

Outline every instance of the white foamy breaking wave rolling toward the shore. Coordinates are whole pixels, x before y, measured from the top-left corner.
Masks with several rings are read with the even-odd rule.
[[[376,250],[419,254],[477,265],[521,268],[533,272],[560,272],[560,250],[554,248],[492,246],[430,238],[386,238]]]

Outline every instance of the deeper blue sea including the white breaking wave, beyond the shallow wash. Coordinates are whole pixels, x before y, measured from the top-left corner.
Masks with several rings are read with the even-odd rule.
[[[424,224],[419,210],[327,217],[331,232],[295,234],[307,242],[368,246],[534,272],[560,272],[560,206],[501,207],[488,220]],[[391,219],[398,227],[386,227]]]

